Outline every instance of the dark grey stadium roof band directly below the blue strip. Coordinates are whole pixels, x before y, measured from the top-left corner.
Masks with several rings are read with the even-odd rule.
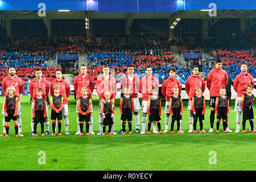
[[[46,11],[48,19],[172,19],[210,18],[208,11],[188,10],[177,13],[98,13],[97,11]],[[255,10],[217,10],[213,18],[255,18]],[[42,19],[38,11],[0,11],[0,19]]]

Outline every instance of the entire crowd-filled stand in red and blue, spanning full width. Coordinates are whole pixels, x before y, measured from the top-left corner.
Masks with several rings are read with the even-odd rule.
[[[0,38],[0,83],[7,75],[9,67],[15,67],[17,75],[24,82],[34,77],[36,68],[42,69],[44,77],[49,82],[55,77],[55,67],[48,65],[50,57],[55,56],[57,51],[82,51],[84,47],[87,52],[88,72],[94,80],[102,72],[103,65],[109,65],[112,74],[117,81],[120,80],[128,65],[135,65],[135,73],[140,78],[144,76],[144,69],[151,64],[153,73],[159,78],[160,84],[168,78],[168,68],[177,69],[177,77],[185,82],[191,75],[191,67],[199,65],[207,77],[213,67],[213,61],[217,57],[223,60],[225,70],[234,79],[240,73],[240,64],[248,65],[251,75],[256,77],[255,72],[255,40],[256,34],[247,32],[236,35],[216,35],[214,39],[205,42],[201,37],[186,38],[178,36],[177,39],[163,38],[134,38],[133,41],[125,39],[121,41],[115,38],[88,39],[85,36],[9,36]],[[179,50],[201,49],[207,46],[210,60],[188,60],[187,65],[178,63],[170,50],[171,46],[177,46]],[[73,70],[77,76],[79,69]]]

